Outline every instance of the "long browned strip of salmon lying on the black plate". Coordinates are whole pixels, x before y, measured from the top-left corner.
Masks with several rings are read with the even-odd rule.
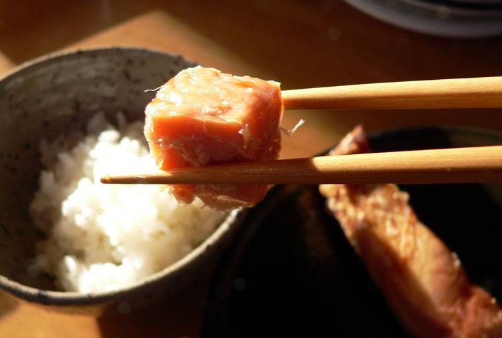
[[[357,127],[331,155],[368,151]],[[502,337],[496,300],[470,284],[455,253],[417,219],[407,193],[394,184],[322,184],[320,192],[409,332],[416,337]]]

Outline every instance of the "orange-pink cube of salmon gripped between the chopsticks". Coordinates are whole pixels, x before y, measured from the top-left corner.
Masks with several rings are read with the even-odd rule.
[[[280,83],[193,67],[163,85],[146,106],[144,134],[157,165],[212,165],[279,158],[283,114]],[[260,184],[175,184],[174,196],[197,196],[216,209],[256,204],[268,191]]]

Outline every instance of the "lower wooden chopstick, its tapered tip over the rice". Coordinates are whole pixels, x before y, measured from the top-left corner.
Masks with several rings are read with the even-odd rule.
[[[104,176],[120,184],[322,184],[502,182],[502,146],[395,151],[242,162]]]

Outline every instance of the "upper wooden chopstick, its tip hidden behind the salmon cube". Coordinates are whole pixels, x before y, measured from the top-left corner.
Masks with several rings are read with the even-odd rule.
[[[502,76],[284,90],[285,109],[500,108]]]

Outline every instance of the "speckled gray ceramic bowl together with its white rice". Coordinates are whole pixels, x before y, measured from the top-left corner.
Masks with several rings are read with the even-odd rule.
[[[54,54],[0,79],[0,288],[100,314],[177,293],[230,241],[241,210],[182,205],[155,185],[142,129],[154,89],[194,64],[134,48]]]

